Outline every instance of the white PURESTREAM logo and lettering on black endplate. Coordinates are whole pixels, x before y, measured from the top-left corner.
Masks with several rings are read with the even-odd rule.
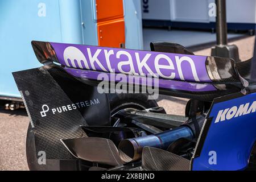
[[[77,102],[76,104],[69,104],[69,105],[65,105],[65,106],[55,107],[55,108],[51,109],[51,113],[52,114],[64,113],[64,112],[67,112],[67,111],[80,109],[80,108],[83,108],[83,107],[89,107],[89,106],[92,106],[92,105],[98,105],[98,104],[100,104],[100,101],[98,100],[98,98],[96,98],[94,100]],[[49,106],[44,104],[42,106],[42,111],[40,111],[41,116],[46,117],[48,111],[50,111]]]

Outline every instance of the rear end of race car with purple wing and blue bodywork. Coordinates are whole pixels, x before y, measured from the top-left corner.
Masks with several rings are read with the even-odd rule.
[[[166,42],[151,43],[151,51],[49,42],[32,46],[43,67],[13,73],[30,117],[30,169],[254,166],[251,60],[196,56]],[[156,93],[189,98],[185,116],[166,114],[152,100]]]

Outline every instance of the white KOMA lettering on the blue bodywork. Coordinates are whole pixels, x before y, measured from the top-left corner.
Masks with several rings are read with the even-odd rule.
[[[246,104],[241,104],[239,107],[233,106],[231,108],[222,109],[218,111],[218,115],[214,123],[240,117],[241,115],[254,113],[255,111],[256,111],[256,101],[254,101],[251,105],[250,105],[250,102],[248,102]]]

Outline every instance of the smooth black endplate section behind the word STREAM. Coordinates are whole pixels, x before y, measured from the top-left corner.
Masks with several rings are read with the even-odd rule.
[[[90,86],[80,82],[58,65],[51,64],[47,65],[47,67],[45,66],[45,68],[68,98],[77,105],[88,125],[111,125],[108,96],[99,93],[97,86]]]

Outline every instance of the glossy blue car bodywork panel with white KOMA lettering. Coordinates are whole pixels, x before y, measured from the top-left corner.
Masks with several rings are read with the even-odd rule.
[[[213,102],[192,160],[193,170],[242,170],[256,140],[256,93]]]

